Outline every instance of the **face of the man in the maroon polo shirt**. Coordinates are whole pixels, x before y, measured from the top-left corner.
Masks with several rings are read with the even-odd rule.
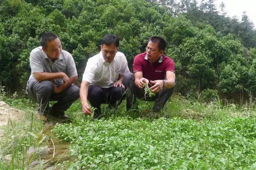
[[[163,53],[163,50],[158,49],[158,42],[148,42],[146,54],[151,63],[156,62]]]

